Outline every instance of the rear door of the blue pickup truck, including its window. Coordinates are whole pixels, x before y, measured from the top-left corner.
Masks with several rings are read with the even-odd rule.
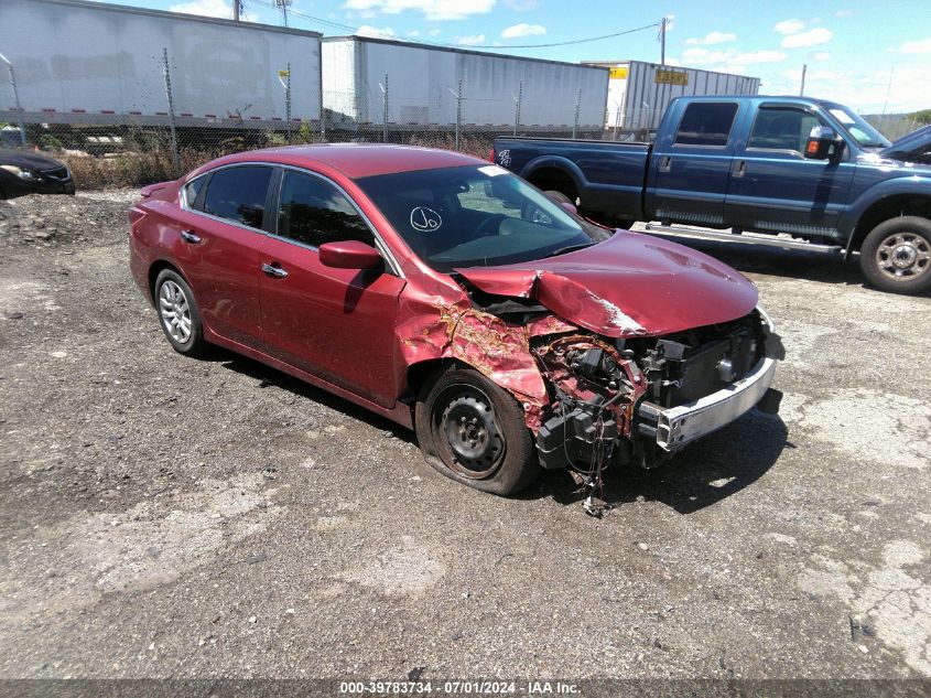
[[[675,131],[667,131],[653,147],[648,214],[671,223],[724,224],[739,109],[737,101],[727,100],[685,106]]]

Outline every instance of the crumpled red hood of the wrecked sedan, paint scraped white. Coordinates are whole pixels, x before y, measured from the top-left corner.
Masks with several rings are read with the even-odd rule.
[[[534,299],[563,320],[615,337],[736,320],[758,300],[756,286],[727,265],[628,232],[549,259],[455,271],[486,293]]]

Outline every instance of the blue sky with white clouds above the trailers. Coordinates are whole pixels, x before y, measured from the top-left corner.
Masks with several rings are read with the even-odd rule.
[[[231,17],[231,0],[122,0]],[[243,0],[245,19],[281,24],[274,0]],[[862,114],[931,108],[931,0],[292,0],[289,24],[553,61],[659,63],[658,28],[562,43],[670,19],[667,63],[751,75],[762,94],[834,99]]]

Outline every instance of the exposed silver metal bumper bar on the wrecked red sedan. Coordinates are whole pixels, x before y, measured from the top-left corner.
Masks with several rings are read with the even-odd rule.
[[[638,409],[640,433],[651,438],[656,433],[658,447],[678,451],[753,409],[769,390],[775,373],[776,359],[765,356],[736,383],[697,400],[669,408],[642,402]]]

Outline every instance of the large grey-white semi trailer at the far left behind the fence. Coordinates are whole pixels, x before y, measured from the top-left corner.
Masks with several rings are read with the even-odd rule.
[[[82,0],[0,0],[0,121],[165,125],[164,51],[180,127],[318,122],[316,32]],[[286,77],[283,77],[286,80]]]

